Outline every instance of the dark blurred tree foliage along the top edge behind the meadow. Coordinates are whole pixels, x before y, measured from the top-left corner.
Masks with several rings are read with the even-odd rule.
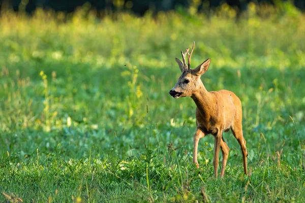
[[[37,7],[55,11],[73,12],[77,7],[86,3],[90,8],[103,12],[131,10],[143,15],[147,10],[154,12],[168,11],[177,8],[195,8],[198,11],[210,11],[226,3],[237,12],[247,9],[250,2],[258,4],[272,4],[281,6],[285,0],[0,0],[2,10],[11,8],[14,11],[25,10],[32,13]],[[293,4],[300,10],[305,10],[304,0],[293,0]]]

